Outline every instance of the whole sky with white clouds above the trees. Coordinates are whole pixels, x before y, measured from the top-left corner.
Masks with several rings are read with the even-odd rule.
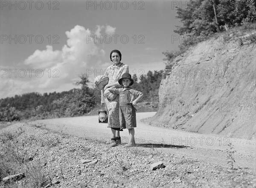
[[[164,70],[177,51],[176,7],[186,1],[1,1],[0,98],[93,87],[118,49],[131,75]]]

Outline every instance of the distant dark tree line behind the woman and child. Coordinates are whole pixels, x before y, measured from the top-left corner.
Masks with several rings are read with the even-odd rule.
[[[144,101],[158,101],[158,88],[163,71],[148,71],[140,75],[133,75],[133,88],[142,91]],[[88,87],[89,80],[86,74],[79,76],[80,80],[70,91],[60,93],[26,93],[0,99],[0,122],[12,122],[26,119],[47,119],[56,117],[76,117],[88,114],[100,105],[100,91]]]

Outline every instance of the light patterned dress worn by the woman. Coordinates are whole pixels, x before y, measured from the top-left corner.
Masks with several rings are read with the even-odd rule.
[[[108,77],[108,83],[115,83],[121,77],[122,74],[129,73],[128,65],[120,63],[117,67],[111,65],[107,68],[105,76]],[[119,95],[114,100],[109,100],[104,97],[105,107],[108,113],[108,127],[110,128],[120,128],[119,123]]]

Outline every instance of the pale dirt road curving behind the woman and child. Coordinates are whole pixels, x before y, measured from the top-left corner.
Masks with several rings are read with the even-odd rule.
[[[155,148],[166,154],[182,154],[184,157],[195,157],[212,165],[227,165],[227,151],[232,143],[234,150],[234,167],[256,169],[256,144],[252,140],[241,140],[214,134],[197,134],[159,128],[140,122],[151,117],[155,112],[137,113],[135,137],[138,148]],[[90,142],[110,140],[111,131],[104,123],[98,123],[98,116],[84,116],[37,120],[30,124],[45,125],[46,128],[87,138]],[[122,142],[127,142],[128,131],[120,132]],[[117,146],[118,147],[118,146]]]

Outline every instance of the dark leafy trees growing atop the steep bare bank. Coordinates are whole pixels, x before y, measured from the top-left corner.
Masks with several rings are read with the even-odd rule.
[[[177,6],[176,10],[176,18],[182,23],[174,31],[182,39],[179,51],[162,52],[170,69],[175,57],[207,37],[236,26],[255,30],[256,0],[189,0],[186,6]],[[252,40],[255,39],[253,34]]]

